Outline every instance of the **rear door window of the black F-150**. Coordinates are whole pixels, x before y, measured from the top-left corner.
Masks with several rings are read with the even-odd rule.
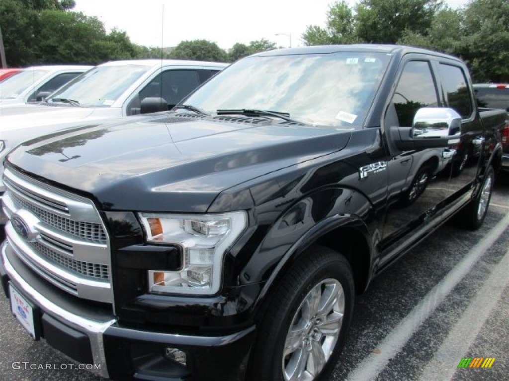
[[[463,119],[469,118],[473,112],[472,99],[463,70],[458,66],[440,63],[440,76],[447,93],[448,106],[456,110]]]

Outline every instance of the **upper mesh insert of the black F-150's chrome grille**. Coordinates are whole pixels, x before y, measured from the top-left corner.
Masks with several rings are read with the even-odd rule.
[[[6,182],[6,185],[7,184],[9,184],[9,182]],[[30,210],[39,217],[39,219],[59,231],[87,241],[106,243],[106,234],[104,233],[102,226],[99,224],[73,221],[69,218],[61,217],[56,213],[40,208],[35,204],[35,202],[29,201],[30,199],[22,199],[15,193],[11,194],[11,198],[18,208]]]

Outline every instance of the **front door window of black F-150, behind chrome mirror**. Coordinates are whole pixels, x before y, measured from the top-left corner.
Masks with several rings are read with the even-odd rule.
[[[418,109],[439,105],[429,62],[409,61],[405,64],[392,105],[400,126],[411,126]]]

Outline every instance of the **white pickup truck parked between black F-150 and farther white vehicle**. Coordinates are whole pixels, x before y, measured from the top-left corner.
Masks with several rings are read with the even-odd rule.
[[[0,160],[27,139],[170,109],[227,65],[160,59],[111,61],[76,77],[37,104],[0,105]],[[0,195],[4,191],[0,181]]]

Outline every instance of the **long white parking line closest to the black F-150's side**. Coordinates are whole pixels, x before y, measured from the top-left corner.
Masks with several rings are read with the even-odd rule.
[[[371,354],[350,373],[348,381],[374,380],[385,368],[391,358],[412,337],[419,326],[428,319],[446,296],[467,275],[486,250],[502,235],[509,226],[506,214],[482,240],[470,249],[467,255],[417,304],[412,311],[378,345],[379,354]],[[459,360],[458,360],[459,362]],[[433,378],[431,378],[433,379]]]

